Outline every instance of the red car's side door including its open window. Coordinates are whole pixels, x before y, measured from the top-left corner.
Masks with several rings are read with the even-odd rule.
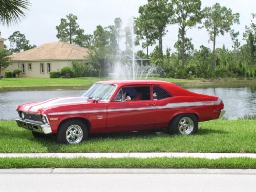
[[[130,99],[127,99],[130,97]],[[156,107],[151,97],[151,86],[120,88],[108,105],[108,129],[132,131],[155,126]]]

